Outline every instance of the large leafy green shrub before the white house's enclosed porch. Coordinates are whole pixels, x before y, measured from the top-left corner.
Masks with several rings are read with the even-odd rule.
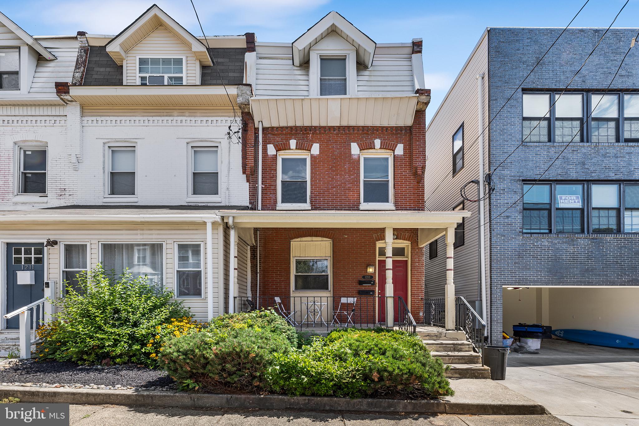
[[[169,334],[166,324],[179,319],[185,323],[183,329],[192,328],[188,310],[171,301],[173,293],[158,289],[146,277],[134,278],[126,271],[115,278],[98,264],[79,274],[75,288],[65,285],[65,296],[54,301],[57,321],[38,330],[38,359],[153,367],[162,337]]]

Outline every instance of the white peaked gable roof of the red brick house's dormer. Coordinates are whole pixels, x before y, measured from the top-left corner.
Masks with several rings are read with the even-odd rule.
[[[300,66],[307,63],[311,57],[311,48],[331,33],[341,36],[350,43],[357,52],[357,62],[366,68],[371,68],[377,43],[336,11],[328,13],[317,24],[299,36],[295,42],[291,43],[293,65]]]

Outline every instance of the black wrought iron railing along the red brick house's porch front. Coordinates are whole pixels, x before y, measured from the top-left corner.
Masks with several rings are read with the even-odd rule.
[[[329,331],[335,328],[374,328],[386,325],[387,300],[393,300],[394,323],[415,333],[417,324],[399,296],[259,296],[236,297],[235,312],[273,308],[298,330]]]

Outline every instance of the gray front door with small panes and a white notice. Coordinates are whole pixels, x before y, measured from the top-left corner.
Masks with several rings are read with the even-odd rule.
[[[21,273],[20,277],[19,273]],[[33,281],[30,279],[31,273],[33,273]],[[27,283],[33,282],[33,284],[18,284],[20,280]],[[6,245],[6,314],[43,297],[43,244],[8,243]],[[33,313],[31,315],[33,316]],[[39,310],[36,315],[37,318],[40,317]],[[6,320],[6,328],[19,328],[19,317],[15,316]]]

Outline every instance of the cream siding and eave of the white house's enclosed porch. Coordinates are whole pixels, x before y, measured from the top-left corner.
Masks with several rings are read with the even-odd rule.
[[[33,239],[42,240],[43,235],[47,235],[52,239],[58,240],[60,243],[89,243],[90,255],[89,261],[90,267],[95,268],[99,259],[99,245],[100,242],[112,242],[112,241],[149,241],[149,242],[162,242],[165,243],[165,258],[164,258],[164,286],[171,291],[174,290],[174,243],[176,241],[206,241],[206,229],[153,229],[152,227],[132,227],[128,225],[119,225],[119,229],[73,229],[73,230],[52,230],[47,229],[3,229],[2,238],[3,241],[12,241],[12,238],[17,239]],[[143,237],[141,235],[144,235]],[[58,244],[56,247],[49,248],[47,257],[47,278],[50,280],[56,280],[56,294],[61,294],[62,285],[61,278],[61,263],[60,263],[60,247]],[[218,301],[217,301],[217,235],[213,232],[213,312],[217,316]],[[206,289],[206,260],[204,262],[204,299],[182,299],[184,306],[190,308],[191,314],[193,314],[198,321],[208,321],[208,306],[207,297],[208,291]]]

